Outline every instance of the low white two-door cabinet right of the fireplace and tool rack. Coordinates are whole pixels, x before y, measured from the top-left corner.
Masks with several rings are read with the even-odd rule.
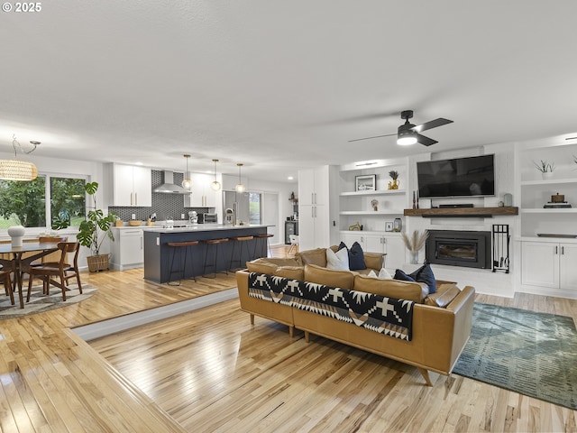
[[[577,290],[577,244],[525,241],[521,254],[522,284]]]

